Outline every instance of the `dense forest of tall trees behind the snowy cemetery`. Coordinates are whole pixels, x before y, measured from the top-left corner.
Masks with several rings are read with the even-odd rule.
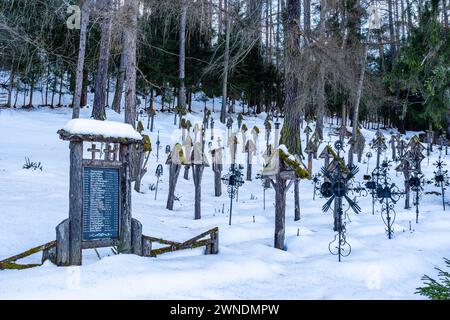
[[[285,140],[300,119],[450,135],[448,14],[448,0],[1,0],[0,92],[13,108],[70,94],[74,117],[91,92],[93,118],[125,105],[133,124],[136,101],[219,98],[222,122],[286,116]]]

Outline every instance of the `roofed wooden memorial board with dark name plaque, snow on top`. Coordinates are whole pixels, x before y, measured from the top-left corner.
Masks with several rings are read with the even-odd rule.
[[[129,124],[91,119],[71,120],[58,134],[70,141],[70,197],[69,218],[56,228],[57,265],[81,265],[88,248],[118,246],[142,255],[142,225],[131,217],[130,168],[131,146],[142,136]],[[84,142],[91,143],[91,159],[83,157]],[[96,159],[94,142],[106,144],[103,159]]]

